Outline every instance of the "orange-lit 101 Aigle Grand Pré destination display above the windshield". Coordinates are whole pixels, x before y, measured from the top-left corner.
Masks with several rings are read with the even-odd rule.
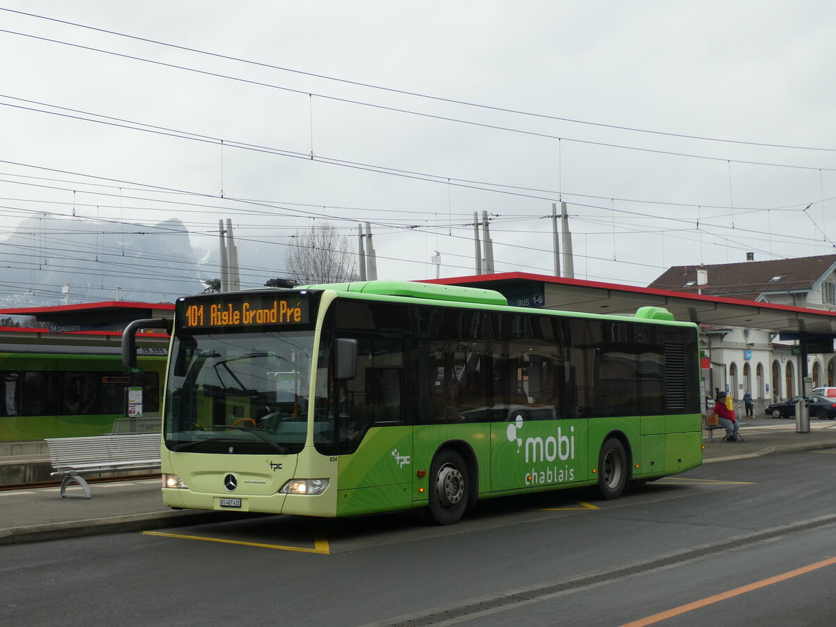
[[[269,324],[308,324],[308,296],[254,294],[178,303],[182,329],[243,329]]]

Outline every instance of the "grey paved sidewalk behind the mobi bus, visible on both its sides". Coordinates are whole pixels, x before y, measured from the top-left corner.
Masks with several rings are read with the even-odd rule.
[[[836,448],[836,421],[810,421],[810,433],[787,422],[743,421],[743,442],[706,435],[706,463],[784,451]],[[60,498],[59,487],[0,491],[0,545],[229,520],[236,512],[176,512],[162,503],[160,480],[93,483],[90,499]],[[69,490],[80,492],[78,487]]]

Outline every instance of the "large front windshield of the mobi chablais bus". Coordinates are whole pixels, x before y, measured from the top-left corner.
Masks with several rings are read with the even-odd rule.
[[[171,451],[298,453],[313,331],[179,335],[166,390]]]

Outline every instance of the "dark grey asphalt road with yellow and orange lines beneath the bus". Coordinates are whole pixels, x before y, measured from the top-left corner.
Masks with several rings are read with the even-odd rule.
[[[451,527],[263,516],[9,545],[0,624],[831,625],[834,470],[836,450],[717,462]]]

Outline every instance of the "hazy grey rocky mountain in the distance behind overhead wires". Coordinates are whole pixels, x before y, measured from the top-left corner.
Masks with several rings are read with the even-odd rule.
[[[30,217],[0,243],[0,306],[173,302],[217,276],[200,271],[205,256],[178,218],[149,226]]]

